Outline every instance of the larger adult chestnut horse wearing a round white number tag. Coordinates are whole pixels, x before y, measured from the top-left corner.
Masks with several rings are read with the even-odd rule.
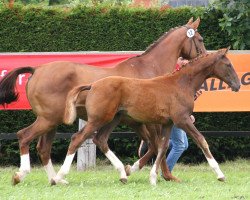
[[[52,62],[37,68],[18,68],[6,75],[0,82],[0,104],[5,105],[16,101],[18,93],[15,90],[15,82],[18,75],[31,73],[26,93],[32,110],[37,115],[37,119],[32,125],[17,133],[21,165],[19,171],[13,176],[13,184],[22,181],[30,172],[29,144],[37,137],[39,137],[37,150],[49,181],[56,175],[50,158],[51,146],[57,125],[63,123],[66,97],[72,88],[111,75],[145,79],[172,72],[179,56],[189,59],[206,52],[203,39],[197,32],[199,23],[200,19],[195,22],[190,19],[185,26],[165,33],[142,55],[121,62],[113,68],[96,68],[72,62]],[[190,29],[195,30],[195,34],[188,37],[187,31]],[[85,98],[83,97],[83,99]],[[86,119],[86,111],[83,106],[77,108],[77,115]],[[100,140],[107,141],[110,130],[118,122],[119,120],[114,120],[99,130],[94,141],[97,143]],[[134,126],[132,120],[126,120],[126,123],[132,126],[144,140],[148,140],[148,130],[145,126],[138,127],[137,124]],[[151,125],[148,128],[151,127],[154,126]],[[150,131],[157,130],[158,127],[150,129]],[[149,150],[149,152],[147,155],[151,156],[152,151]],[[144,164],[148,156],[144,158],[145,161],[142,159],[144,162],[140,162],[140,164]],[[163,176],[166,179],[177,180],[170,174],[165,162],[162,162],[162,168]],[[67,181],[61,180],[61,183],[67,183]]]

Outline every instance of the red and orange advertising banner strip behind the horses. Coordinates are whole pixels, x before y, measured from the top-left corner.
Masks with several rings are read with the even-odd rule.
[[[138,54],[139,52],[3,53],[0,54],[0,79],[17,67],[36,67],[53,61],[72,61],[95,67],[112,67]],[[230,51],[228,57],[241,80],[240,92],[231,92],[225,83],[218,79],[209,79],[202,85],[203,94],[195,102],[196,112],[250,111],[250,52]],[[20,94],[19,100],[8,105],[6,109],[30,109],[25,93],[29,76],[30,74],[19,76],[16,82]],[[0,109],[3,107],[0,106]]]

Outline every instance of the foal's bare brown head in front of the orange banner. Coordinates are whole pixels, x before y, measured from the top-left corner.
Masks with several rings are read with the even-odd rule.
[[[226,56],[228,50],[229,47],[217,51],[218,57],[215,65],[213,66],[212,75],[227,83],[229,87],[231,87],[232,91],[238,92],[240,89],[240,80],[232,63]]]

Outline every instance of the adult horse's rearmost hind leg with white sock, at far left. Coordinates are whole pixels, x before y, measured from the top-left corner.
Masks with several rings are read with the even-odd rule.
[[[49,121],[42,117],[37,117],[37,120],[32,125],[17,132],[21,155],[21,164],[19,171],[16,172],[12,177],[13,185],[16,185],[21,182],[25,178],[25,176],[30,172],[30,142],[39,135],[47,133],[51,129],[53,129],[53,126]]]

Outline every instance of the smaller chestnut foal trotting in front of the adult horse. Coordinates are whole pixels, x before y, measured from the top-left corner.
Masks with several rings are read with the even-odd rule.
[[[232,91],[239,91],[239,78],[226,57],[228,49],[216,53],[202,55],[187,64],[179,72],[152,79],[136,79],[125,77],[107,77],[91,85],[78,86],[69,92],[64,122],[71,124],[76,118],[77,97],[81,91],[85,93],[85,107],[88,121],[86,126],[72,136],[68,153],[63,166],[52,180],[56,184],[68,174],[77,148],[88,137],[105,124],[111,122],[116,113],[122,113],[134,119],[138,124],[162,124],[167,131],[159,140],[158,154],[150,171],[150,182],[156,185],[159,164],[166,154],[170,130],[173,123],[187,132],[202,149],[209,165],[217,174],[218,180],[225,179],[218,163],[213,158],[203,135],[195,128],[190,115],[194,108],[194,94],[209,77],[216,77],[227,83]],[[124,166],[113,157],[108,150],[105,155],[117,169]]]

